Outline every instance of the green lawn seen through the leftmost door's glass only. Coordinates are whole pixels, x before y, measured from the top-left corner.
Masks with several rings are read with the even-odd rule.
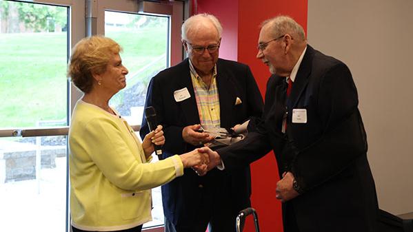
[[[66,33],[0,34],[0,127],[66,117]]]

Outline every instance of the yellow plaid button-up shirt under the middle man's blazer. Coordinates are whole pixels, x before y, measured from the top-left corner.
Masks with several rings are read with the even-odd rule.
[[[211,85],[208,87],[201,76],[197,74],[190,61],[190,73],[192,85],[194,86],[195,98],[199,112],[199,121],[204,129],[221,127],[219,95],[216,87],[216,65],[212,73]]]

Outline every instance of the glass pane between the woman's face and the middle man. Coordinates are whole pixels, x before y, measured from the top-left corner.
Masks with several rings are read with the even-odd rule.
[[[169,17],[105,11],[105,36],[122,46],[129,70],[125,89],[110,105],[132,125],[141,124],[150,78],[168,67],[168,30]]]

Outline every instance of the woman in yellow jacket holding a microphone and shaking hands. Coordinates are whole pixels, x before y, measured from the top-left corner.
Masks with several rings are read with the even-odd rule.
[[[196,151],[151,163],[162,127],[140,143],[133,129],[108,103],[126,86],[121,47],[92,36],[74,48],[68,76],[83,93],[69,131],[70,211],[73,231],[141,231],[152,220],[151,191],[183,175],[183,168],[207,157]]]

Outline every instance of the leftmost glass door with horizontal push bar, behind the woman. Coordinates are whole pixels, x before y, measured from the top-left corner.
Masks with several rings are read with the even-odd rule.
[[[0,0],[0,231],[68,230],[66,65],[83,9]]]

